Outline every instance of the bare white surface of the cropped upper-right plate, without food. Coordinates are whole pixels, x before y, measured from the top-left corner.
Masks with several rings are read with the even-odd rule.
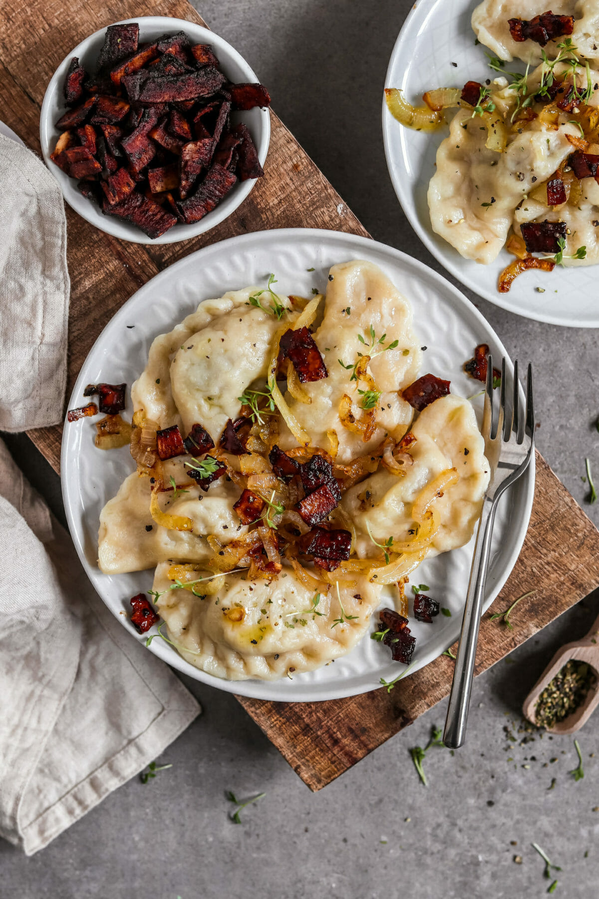
[[[462,87],[467,81],[497,76],[488,66],[482,44],[475,46],[471,14],[478,0],[418,0],[395,42],[385,87],[399,87],[415,105],[436,87]],[[551,4],[548,4],[551,5]],[[515,60],[511,71],[524,71]],[[451,112],[451,111],[450,111]],[[414,131],[393,119],[383,97],[383,141],[393,188],[420,240],[454,278],[490,303],[551,325],[599,327],[597,268],[556,268],[528,271],[515,279],[508,293],[498,292],[499,273],[514,261],[502,250],[494,263],[464,259],[435,234],[428,213],[428,182],[435,172],[436,148],[448,129]],[[544,293],[535,288],[543,288]]]

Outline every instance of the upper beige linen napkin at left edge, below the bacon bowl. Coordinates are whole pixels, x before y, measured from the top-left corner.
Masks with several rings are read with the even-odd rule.
[[[0,431],[63,419],[70,281],[57,181],[0,133]]]

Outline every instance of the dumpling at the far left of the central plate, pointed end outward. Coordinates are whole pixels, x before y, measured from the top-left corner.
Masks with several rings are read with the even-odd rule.
[[[181,483],[183,476],[178,476]],[[239,489],[225,477],[210,485],[207,493],[189,481],[187,491],[172,501],[168,491],[160,494],[164,512],[188,517],[192,531],[168,530],[156,524],[150,514],[149,477],[129,475],[119,493],[100,514],[98,564],[104,574],[123,574],[153,568],[165,559],[203,562],[214,554],[207,534],[215,534],[221,543],[241,537],[247,531],[233,511]]]

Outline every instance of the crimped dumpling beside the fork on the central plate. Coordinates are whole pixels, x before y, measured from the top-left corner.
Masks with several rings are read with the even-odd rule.
[[[414,462],[404,476],[379,469],[343,497],[342,505],[359,534],[358,552],[368,552],[369,545],[371,553],[376,548],[368,528],[380,544],[390,537],[394,543],[417,540],[412,512],[418,494],[453,468],[459,479],[434,501],[440,527],[427,555],[462,547],[471,539],[489,484],[489,462],[471,403],[462,396],[443,396],[418,415],[411,432],[416,438],[410,445]]]

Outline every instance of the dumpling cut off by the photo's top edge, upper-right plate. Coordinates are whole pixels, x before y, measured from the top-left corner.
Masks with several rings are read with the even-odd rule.
[[[563,38],[550,40],[545,47],[534,40],[522,42],[513,39],[509,32],[509,19],[533,19],[535,15],[551,12],[555,15],[573,15],[574,31],[569,37],[577,47],[579,56],[591,63],[599,62],[599,0],[484,0],[472,13],[472,31],[494,56],[510,62],[522,59],[536,66],[542,61],[542,51],[552,59],[559,53],[558,44]]]

